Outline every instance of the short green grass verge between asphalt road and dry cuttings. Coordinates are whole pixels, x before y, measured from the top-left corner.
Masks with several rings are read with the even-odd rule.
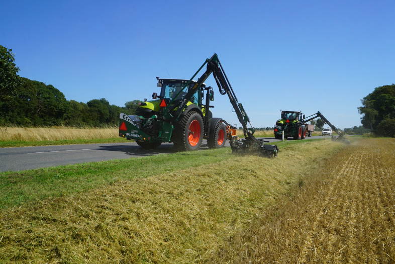
[[[281,148],[314,140],[274,142]],[[0,208],[233,158],[230,148],[0,172]]]

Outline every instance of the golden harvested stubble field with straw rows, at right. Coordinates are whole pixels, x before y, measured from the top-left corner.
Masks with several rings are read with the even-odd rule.
[[[395,263],[395,140],[343,149],[210,262]]]

